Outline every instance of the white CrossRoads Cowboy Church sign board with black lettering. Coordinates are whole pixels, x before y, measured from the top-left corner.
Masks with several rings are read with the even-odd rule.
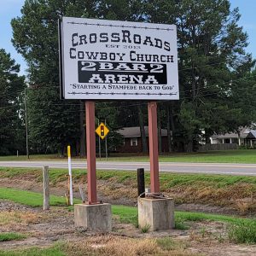
[[[61,97],[177,100],[176,26],[63,17]]]

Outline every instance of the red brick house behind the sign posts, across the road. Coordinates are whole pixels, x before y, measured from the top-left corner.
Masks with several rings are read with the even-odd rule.
[[[148,146],[148,126],[144,126]],[[140,153],[143,152],[143,143],[139,126],[124,127],[118,131],[123,138],[123,144],[117,148],[117,152]],[[167,130],[161,129],[162,152],[168,151]]]

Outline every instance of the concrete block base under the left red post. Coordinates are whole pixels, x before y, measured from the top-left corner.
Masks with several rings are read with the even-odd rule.
[[[75,205],[74,222],[77,227],[110,232],[112,230],[111,205],[105,203],[97,205]]]

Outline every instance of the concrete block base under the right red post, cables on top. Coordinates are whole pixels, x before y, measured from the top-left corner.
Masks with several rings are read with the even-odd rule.
[[[174,201],[172,198],[138,198],[138,224],[149,226],[150,231],[172,230],[174,224]]]

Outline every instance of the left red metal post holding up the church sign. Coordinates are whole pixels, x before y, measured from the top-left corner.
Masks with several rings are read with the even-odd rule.
[[[95,102],[85,102],[88,203],[97,203]]]

